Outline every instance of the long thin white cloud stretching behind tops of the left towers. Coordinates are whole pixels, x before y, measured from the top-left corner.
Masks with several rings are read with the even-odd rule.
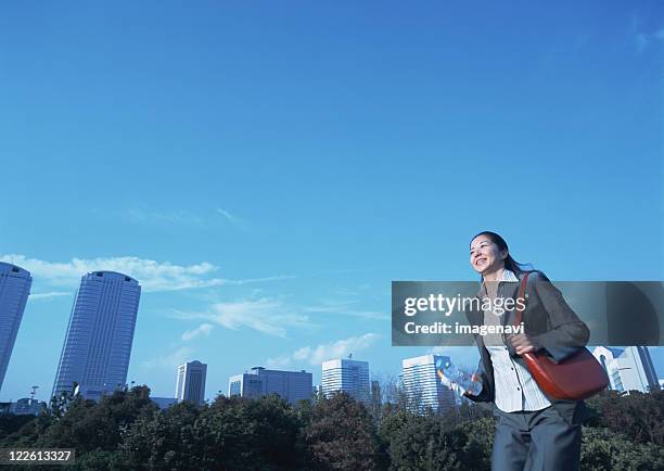
[[[18,265],[30,273],[54,287],[75,287],[81,275],[89,271],[110,270],[128,275],[139,280],[143,290],[178,291],[195,288],[241,285],[294,278],[274,276],[232,280],[214,277],[218,267],[203,262],[193,265],[176,265],[139,257],[72,258],[69,262],[47,262],[21,254],[0,255],[0,260]]]

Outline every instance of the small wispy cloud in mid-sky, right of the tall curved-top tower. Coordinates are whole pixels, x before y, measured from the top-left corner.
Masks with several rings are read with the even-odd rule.
[[[289,328],[311,327],[308,316],[298,314],[296,309],[274,297],[215,303],[206,313],[178,311],[177,316],[206,320],[232,330],[253,329],[280,338],[286,336]]]

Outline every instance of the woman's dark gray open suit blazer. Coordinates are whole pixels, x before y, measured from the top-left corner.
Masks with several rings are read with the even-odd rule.
[[[518,276],[523,279],[523,273]],[[519,296],[521,283],[501,281],[498,284],[498,296],[512,297]],[[549,281],[541,271],[532,271],[528,276],[526,287],[526,308],[523,311],[522,321],[524,322],[525,333],[533,335],[542,345],[547,355],[556,362],[574,355],[579,348],[585,347],[590,332],[585,322],[570,308],[560,291]],[[465,311],[468,320],[473,326],[482,326],[484,322],[484,311],[473,309],[476,306],[469,306]],[[515,310],[508,311],[502,316],[503,326],[514,323]],[[482,335],[475,334],[475,343],[480,351],[480,366],[477,374],[482,379],[482,392],[477,396],[469,396],[471,400],[477,403],[493,403],[495,398],[494,367],[491,358],[484,346]],[[509,342],[506,345],[510,356],[514,361],[525,367],[521,356],[516,355]],[[549,397],[551,405],[569,422],[578,423],[586,417],[586,408],[583,400],[562,400]]]

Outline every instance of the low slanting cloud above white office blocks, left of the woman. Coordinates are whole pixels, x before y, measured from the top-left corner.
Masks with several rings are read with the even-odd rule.
[[[379,334],[369,332],[360,336],[337,340],[336,342],[320,344],[315,347],[304,346],[292,354],[268,358],[266,364],[270,368],[284,368],[293,364],[303,362],[320,365],[329,359],[343,358],[350,353],[355,354],[365,351],[379,339]]]

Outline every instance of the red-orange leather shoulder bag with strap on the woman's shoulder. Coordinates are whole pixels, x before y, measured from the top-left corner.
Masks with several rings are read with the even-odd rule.
[[[521,282],[519,296],[525,300],[528,273]],[[515,326],[521,323],[523,309],[516,309]],[[609,377],[588,348],[554,362],[545,352],[522,355],[539,389],[554,399],[586,399],[609,385]]]

